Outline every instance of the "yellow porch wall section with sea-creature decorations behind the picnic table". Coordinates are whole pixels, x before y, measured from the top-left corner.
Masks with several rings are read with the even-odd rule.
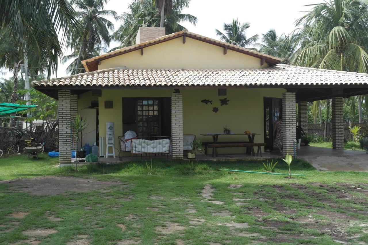
[[[284,89],[227,89],[226,96],[218,96],[217,89],[180,89],[183,93],[183,130],[184,134],[195,134],[202,142],[212,141],[206,133],[223,133],[227,125],[232,133],[251,131],[260,134],[255,142],[264,142],[263,134],[263,97],[282,98]],[[220,106],[219,99],[230,100],[227,105]],[[211,104],[201,100],[212,100]],[[219,111],[214,113],[213,107]],[[248,141],[248,136],[219,136],[219,141]],[[263,150],[263,149],[262,149]],[[223,148],[219,153],[240,153],[243,148]]]

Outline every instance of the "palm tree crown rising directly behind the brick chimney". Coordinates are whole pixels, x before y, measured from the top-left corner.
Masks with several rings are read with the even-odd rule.
[[[166,13],[164,19],[166,34],[183,31],[185,27],[179,24],[181,21],[189,21],[193,25],[197,23],[195,16],[181,13],[183,8],[189,6],[189,2],[190,0],[173,1],[171,11]],[[160,26],[160,12],[152,0],[134,0],[128,8],[129,12],[119,17],[122,25],[112,35],[112,40],[120,42],[120,46],[114,49],[134,45],[139,27]]]

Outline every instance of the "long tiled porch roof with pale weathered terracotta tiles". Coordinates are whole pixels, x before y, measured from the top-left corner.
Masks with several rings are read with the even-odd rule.
[[[44,79],[32,86],[240,86],[368,85],[368,74],[291,65],[237,70],[155,70],[111,68]]]

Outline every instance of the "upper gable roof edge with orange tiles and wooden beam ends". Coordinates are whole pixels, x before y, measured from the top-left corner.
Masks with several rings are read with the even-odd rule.
[[[199,40],[199,41],[202,41],[202,42],[210,43],[212,45],[216,45],[216,46],[220,46],[220,47],[224,47],[224,48],[226,47],[229,50],[233,50],[233,51],[236,51],[236,52],[247,54],[247,55],[250,55],[250,56],[253,56],[253,57],[263,58],[263,59],[265,59],[266,63],[271,64],[271,65],[279,64],[282,61],[282,59],[280,59],[280,58],[269,56],[267,54],[262,54],[262,53],[259,53],[259,52],[253,51],[253,50],[245,49],[243,47],[232,45],[230,43],[221,42],[221,41],[216,40],[216,39],[201,36],[201,35],[196,34],[196,33],[188,32],[187,29],[184,29],[183,31],[180,31],[180,32],[175,32],[175,33],[172,33],[170,35],[162,36],[160,38],[156,38],[156,39],[144,42],[144,43],[139,43],[137,45],[124,47],[122,49],[118,49],[118,50],[115,50],[113,52],[102,54],[100,56],[96,56],[96,57],[90,58],[88,60],[83,60],[82,64],[83,64],[84,68],[86,69],[86,71],[96,71],[96,70],[98,70],[98,63],[101,60],[106,60],[106,59],[111,58],[111,57],[119,56],[121,54],[129,53],[129,52],[132,52],[132,51],[135,51],[135,50],[138,50],[138,49],[142,49],[144,47],[149,47],[149,46],[152,46],[152,45],[155,45],[155,44],[158,44],[158,43],[162,43],[162,42],[166,42],[168,40],[171,40],[171,39],[174,39],[174,38],[179,38],[179,37],[182,37],[182,36],[189,37],[189,38],[192,38],[192,39],[196,39],[196,40]]]

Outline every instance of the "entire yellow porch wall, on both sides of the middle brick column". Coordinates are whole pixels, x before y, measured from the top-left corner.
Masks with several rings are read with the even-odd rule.
[[[99,135],[106,137],[106,123],[114,122],[115,147],[119,148],[118,136],[123,135],[122,97],[170,97],[173,89],[103,89],[102,97],[92,97],[91,93],[79,96],[78,110],[88,107],[91,100],[99,101]],[[227,125],[231,132],[243,133],[246,130],[259,133],[255,142],[263,142],[263,97],[282,98],[284,89],[227,89],[226,96],[218,96],[216,88],[180,89],[183,94],[184,134],[195,134],[201,141],[212,141],[205,133],[221,133]],[[230,100],[220,106],[219,99]],[[201,100],[212,100],[211,104]],[[113,109],[105,109],[105,100],[113,101]],[[135,105],[132,105],[135,106]],[[214,113],[213,107],[219,107]],[[246,136],[220,136],[220,141],[245,141]],[[106,146],[103,146],[106,150]],[[219,149],[219,153],[244,152],[243,148]],[[116,150],[116,155],[118,151]]]

